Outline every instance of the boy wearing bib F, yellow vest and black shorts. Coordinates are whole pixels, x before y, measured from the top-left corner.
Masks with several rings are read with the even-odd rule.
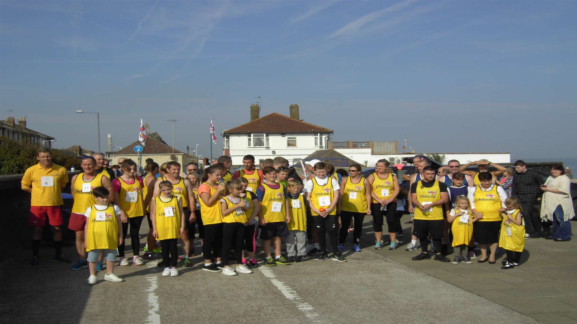
[[[261,227],[258,231],[260,231],[260,239],[263,240],[264,264],[267,266],[290,265],[287,259],[280,255],[281,238],[288,235],[287,223],[290,223],[287,191],[282,184],[275,182],[275,168],[264,167],[263,175],[267,182],[258,186],[256,196],[261,204],[261,214],[258,216],[258,223]],[[271,257],[271,240],[275,241],[274,259]]]

